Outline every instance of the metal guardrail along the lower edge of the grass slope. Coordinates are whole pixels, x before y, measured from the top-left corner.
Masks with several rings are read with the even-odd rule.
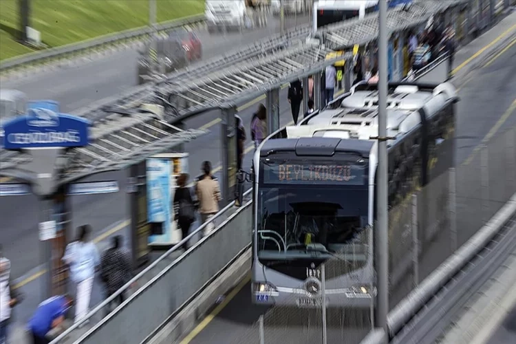
[[[172,30],[173,28],[180,28],[185,25],[199,25],[204,23],[204,14],[197,14],[173,21],[166,21],[156,25],[158,32]],[[72,43],[63,45],[61,47],[54,47],[40,52],[33,52],[19,57],[8,58],[0,63],[0,73],[12,72],[14,70],[24,69],[26,67],[34,67],[42,65],[49,61],[58,61],[63,58],[76,58],[85,52],[95,50],[105,50],[114,45],[120,45],[131,41],[147,39],[154,30],[148,26],[142,28],[135,28],[117,32],[116,34],[107,34],[95,39],[82,41],[79,43]]]

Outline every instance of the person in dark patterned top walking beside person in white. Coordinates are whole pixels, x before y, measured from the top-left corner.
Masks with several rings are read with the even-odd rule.
[[[123,247],[122,235],[116,235],[111,238],[111,247],[105,250],[100,258],[100,278],[105,286],[106,299],[125,286],[125,283],[131,281],[132,277],[131,254]],[[125,297],[125,292],[122,292],[111,301],[107,305],[106,314],[116,308],[116,305],[124,302]]]

